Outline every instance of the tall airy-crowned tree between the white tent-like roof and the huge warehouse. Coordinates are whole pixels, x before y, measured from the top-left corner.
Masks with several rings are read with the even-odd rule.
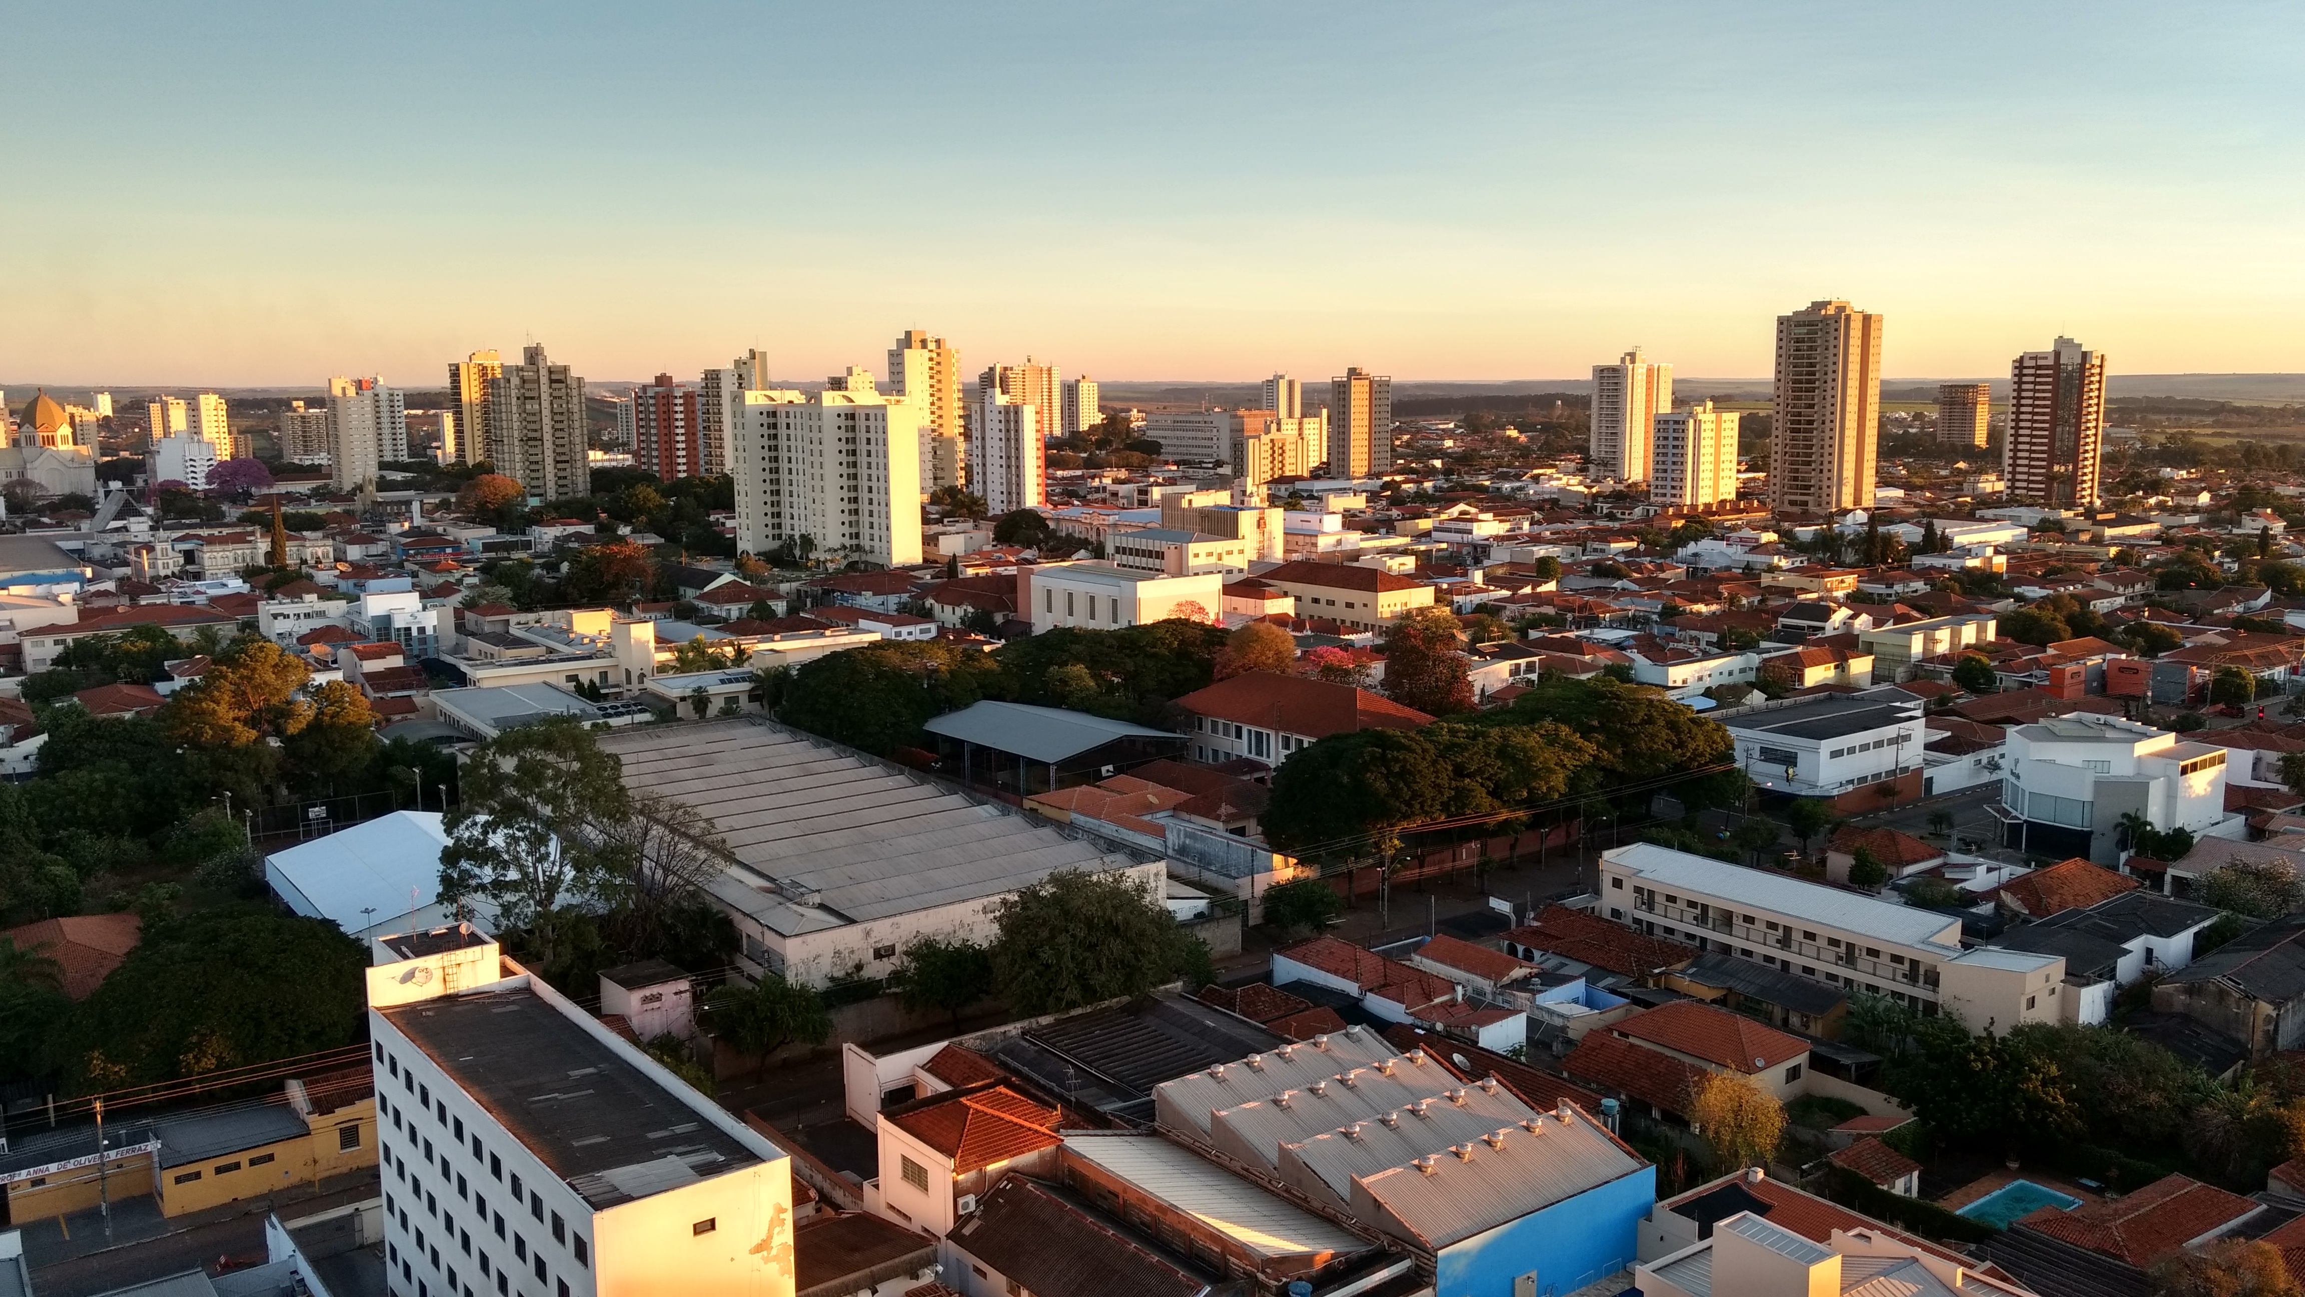
[[[553,958],[553,914],[609,889],[622,861],[611,833],[632,817],[625,764],[579,720],[556,715],[507,729],[473,750],[447,812],[440,898],[489,898],[509,928],[528,928]]]

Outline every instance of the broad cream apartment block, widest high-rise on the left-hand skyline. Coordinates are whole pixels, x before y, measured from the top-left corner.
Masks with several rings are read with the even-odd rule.
[[[745,392],[738,549],[809,540],[823,556],[920,563],[920,411],[848,367],[821,392]]]

